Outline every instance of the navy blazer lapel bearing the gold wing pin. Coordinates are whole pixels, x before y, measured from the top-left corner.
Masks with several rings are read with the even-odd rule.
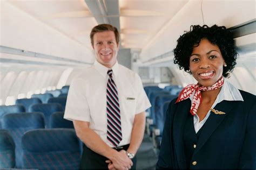
[[[207,121],[205,122],[204,128],[202,129],[202,132],[198,139],[197,147],[194,151],[194,154],[196,154],[200,150],[200,148],[204,146],[208,138],[215,131],[215,129],[218,128],[218,126],[224,120],[226,115],[230,112],[232,107],[233,107],[232,103],[227,101],[222,101],[217,105],[215,105],[214,107],[215,110],[225,112],[225,114],[217,115],[211,111],[211,115],[208,117]]]

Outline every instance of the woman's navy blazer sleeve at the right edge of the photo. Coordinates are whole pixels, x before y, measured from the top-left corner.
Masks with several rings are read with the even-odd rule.
[[[255,98],[254,98],[255,99]],[[256,102],[254,100],[247,117],[246,134],[240,160],[239,169],[256,169]]]

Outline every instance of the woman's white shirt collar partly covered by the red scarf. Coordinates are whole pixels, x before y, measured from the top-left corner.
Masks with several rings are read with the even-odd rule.
[[[194,93],[190,96],[190,100],[193,100]],[[216,101],[220,103],[221,101],[244,101],[240,91],[234,87],[230,82],[224,79],[223,87],[220,89],[220,93],[218,94]]]

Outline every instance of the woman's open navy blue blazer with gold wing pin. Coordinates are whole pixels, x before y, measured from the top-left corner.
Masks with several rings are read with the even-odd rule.
[[[256,168],[256,96],[240,90],[243,101],[222,101],[204,124],[192,160],[197,165],[186,167],[183,128],[191,100],[176,103],[166,112],[157,169],[255,169]]]

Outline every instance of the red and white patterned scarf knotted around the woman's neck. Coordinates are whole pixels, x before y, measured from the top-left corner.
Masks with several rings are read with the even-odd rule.
[[[197,109],[199,105],[201,104],[201,91],[208,91],[208,90],[215,90],[223,86],[224,83],[224,78],[221,77],[220,80],[218,80],[215,84],[213,84],[210,87],[204,87],[204,86],[199,86],[199,84],[188,84],[183,90],[181,90],[179,97],[175,103],[178,103],[180,101],[186,100],[188,97],[190,97],[194,91],[194,96],[190,108],[190,113],[194,116],[197,113]]]

